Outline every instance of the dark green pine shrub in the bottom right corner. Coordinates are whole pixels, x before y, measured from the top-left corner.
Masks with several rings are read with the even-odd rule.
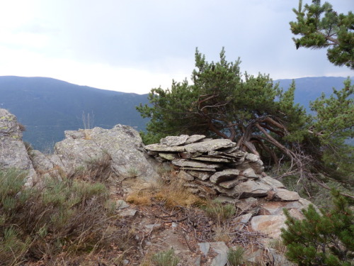
[[[287,246],[285,255],[292,262],[306,266],[350,266],[354,252],[354,219],[348,202],[333,191],[334,207],[328,212],[316,212],[310,205],[302,210],[305,218],[299,221],[287,216],[287,229],[282,228],[282,240]]]

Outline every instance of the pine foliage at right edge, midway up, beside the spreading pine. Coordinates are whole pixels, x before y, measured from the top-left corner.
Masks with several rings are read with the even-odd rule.
[[[333,89],[333,94],[326,98],[322,94],[310,103],[315,112],[309,132],[314,135],[321,146],[319,154],[313,155],[326,167],[337,180],[354,185],[354,86],[350,79],[344,82],[341,90]]]

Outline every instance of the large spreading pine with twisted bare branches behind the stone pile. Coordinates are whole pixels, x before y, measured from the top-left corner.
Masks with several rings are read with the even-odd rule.
[[[137,107],[151,118],[143,137],[199,133],[233,140],[275,164],[281,154],[294,159],[290,147],[307,134],[309,120],[294,103],[295,84],[283,92],[268,75],[243,76],[240,63],[227,62],[224,49],[219,62],[207,62],[197,49],[193,84],[173,81],[171,89],[152,89],[151,105]]]

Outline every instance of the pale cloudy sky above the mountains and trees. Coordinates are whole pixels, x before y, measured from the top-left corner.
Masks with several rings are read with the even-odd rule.
[[[310,0],[304,0],[304,4]],[[339,13],[353,0],[332,0]],[[298,0],[0,1],[0,76],[52,77],[146,94],[190,79],[198,48],[224,47],[241,72],[273,79],[353,77],[326,50],[296,50],[289,22]]]

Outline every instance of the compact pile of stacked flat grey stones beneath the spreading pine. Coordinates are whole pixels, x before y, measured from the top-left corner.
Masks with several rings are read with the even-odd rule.
[[[241,199],[266,196],[274,186],[283,187],[270,177],[263,180],[263,162],[257,155],[239,150],[231,140],[205,135],[168,136],[145,149],[157,160],[169,161],[178,168],[179,176],[196,194],[208,192]],[[205,187],[211,189],[205,191]]]

